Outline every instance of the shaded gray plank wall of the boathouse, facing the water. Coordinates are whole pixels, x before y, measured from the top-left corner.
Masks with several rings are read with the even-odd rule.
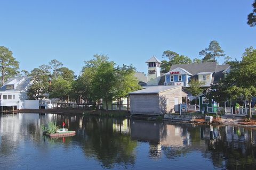
[[[157,94],[130,95],[131,114],[159,114]]]

